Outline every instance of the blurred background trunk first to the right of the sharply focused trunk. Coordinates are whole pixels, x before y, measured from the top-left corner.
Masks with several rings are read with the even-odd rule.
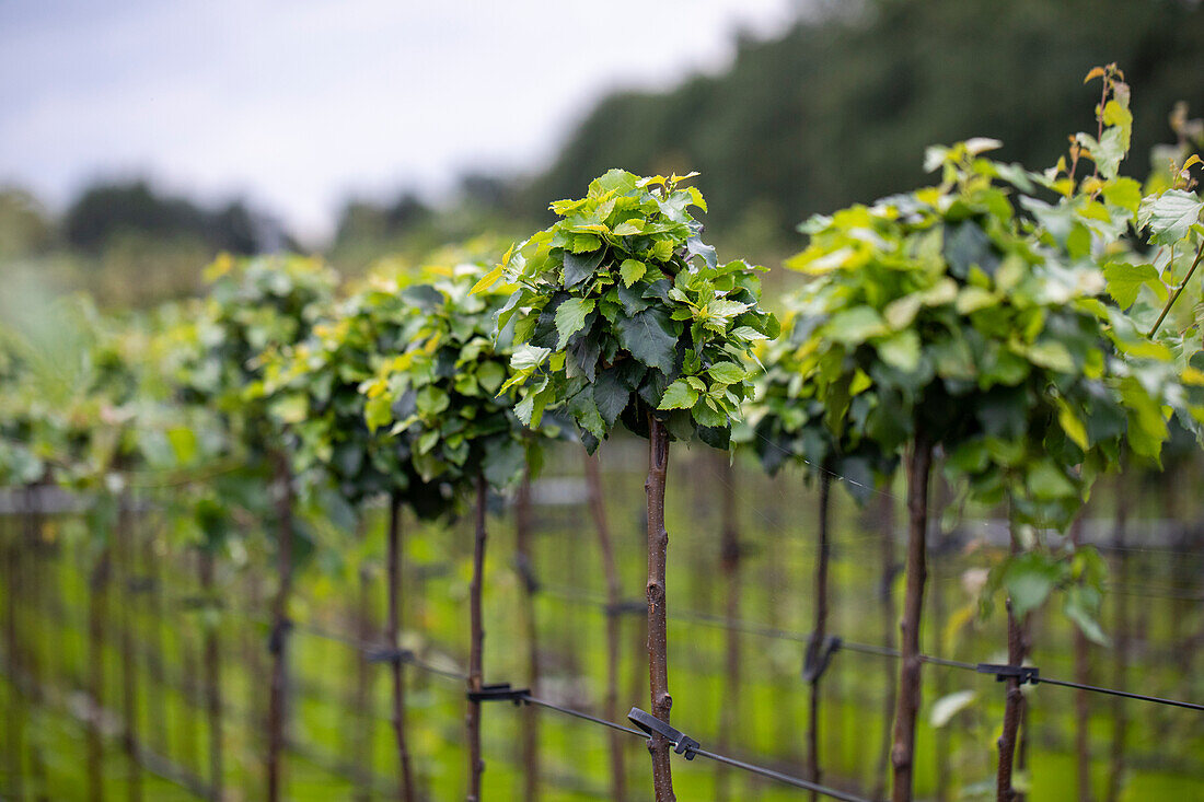
[[[727,600],[724,615],[728,620],[740,617],[740,535],[736,511],[736,471],[726,453],[716,456],[720,477],[719,503],[719,568],[727,588]],[[734,626],[727,629],[727,644],[724,650],[724,674],[726,694],[719,721],[719,750],[731,751],[732,738],[737,735],[740,721],[740,633]],[[618,735],[618,733],[616,733]],[[715,777],[715,800],[727,802],[731,798],[732,773],[720,763]]]

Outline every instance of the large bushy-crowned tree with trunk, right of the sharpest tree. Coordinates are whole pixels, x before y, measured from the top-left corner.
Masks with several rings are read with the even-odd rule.
[[[815,384],[826,426],[833,436],[904,455],[909,530],[891,754],[896,802],[913,794],[934,450],[946,454],[946,467],[975,497],[1009,497],[1017,521],[1064,525],[1091,478],[1114,461],[1121,437],[1157,453],[1165,436],[1162,388],[1174,383],[1164,360],[1120,364],[1119,354],[1140,347],[1139,335],[1097,297],[1103,277],[1090,259],[1090,234],[1078,250],[1043,244],[1045,231],[1020,222],[1011,196],[1032,191],[1034,178],[981,158],[997,145],[972,140],[929,149],[929,169],[942,171],[938,187],[813,218],[804,229],[808,248],[789,263],[811,277],[801,296],[809,331],[801,338],[799,372]],[[1020,202],[1035,208],[1029,200]],[[1009,570],[1027,573],[1038,561],[1031,554]],[[1075,598],[1072,617],[1090,620],[1090,594]],[[1009,684],[1016,704],[1019,690]],[[1010,772],[1008,736],[1005,730],[1001,763]]]

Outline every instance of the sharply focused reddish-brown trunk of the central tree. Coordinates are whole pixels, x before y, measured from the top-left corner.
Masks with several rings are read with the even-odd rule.
[[[651,689],[651,713],[669,723],[673,697],[669,696],[668,623],[665,611],[665,566],[669,533],[665,530],[665,482],[669,464],[669,432],[653,413],[648,414],[648,683]],[[669,742],[653,736],[648,742],[653,756],[653,788],[656,802],[675,802],[669,766]]]

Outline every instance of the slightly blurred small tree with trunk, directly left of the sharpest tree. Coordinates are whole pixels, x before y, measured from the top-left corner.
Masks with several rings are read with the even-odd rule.
[[[498,397],[510,353],[504,337],[491,337],[503,296],[470,293],[483,272],[477,265],[460,265],[408,288],[408,336],[397,341],[376,377],[361,384],[368,429],[386,431],[386,442],[407,456],[421,482],[447,485],[455,499],[471,499],[470,691],[483,685],[488,495],[514,486],[525,471],[539,467],[539,437],[519,423],[509,397]],[[556,429],[544,427],[539,435],[554,436]],[[468,702],[466,741],[466,798],[477,802],[484,769],[477,701]]]

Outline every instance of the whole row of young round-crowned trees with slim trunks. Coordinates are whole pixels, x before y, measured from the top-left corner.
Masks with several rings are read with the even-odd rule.
[[[554,202],[557,220],[491,269],[491,243],[474,242],[439,254],[438,267],[376,275],[341,300],[317,261],[219,259],[208,296],[160,312],[150,331],[89,326],[98,342],[71,373],[8,342],[0,478],[65,482],[120,501],[169,471],[211,552],[235,536],[242,514],[272,523],[273,800],[290,577],[312,543],[297,508],[334,496],[364,514],[370,500],[388,499],[388,661],[406,800],[414,782],[399,642],[401,513],[471,509],[467,798],[479,800],[486,505],[538,473],[541,443],[576,432],[592,453],[620,424],[649,442],[650,706],[666,723],[671,443],[745,443],[769,471],[786,460],[809,466],[821,488],[833,476],[881,486],[902,465],[907,591],[891,763],[893,798],[909,800],[933,465],[963,500],[1007,509],[1011,556],[992,570],[984,602],[1004,597],[1009,664],[1020,666],[1027,617],[1054,591],[1086,637],[1104,637],[1098,558],[1049,532],[1069,526],[1102,472],[1157,460],[1170,414],[1193,430],[1204,414],[1200,332],[1182,317],[1190,305],[1176,306],[1204,254],[1204,202],[1191,177],[1198,159],[1185,151],[1145,193],[1121,177],[1128,88],[1111,66],[1088,78],[1103,87],[1097,130],[1074,137],[1054,169],[992,161],[984,154],[998,143],[970,140],[929,149],[937,185],[809,220],[809,244],[787,264],[807,281],[783,302],[784,325],[761,306],[762,269],[721,263],[702,241],[691,210],[707,205],[691,176],[612,170],[584,197]],[[826,502],[819,515],[808,654],[815,780]],[[597,519],[606,554],[601,505]],[[98,525],[101,559],[110,531]],[[1001,800],[1016,794],[1015,677],[1007,698]],[[659,802],[674,798],[669,747],[660,736],[649,742]],[[614,782],[621,796],[620,771]]]

